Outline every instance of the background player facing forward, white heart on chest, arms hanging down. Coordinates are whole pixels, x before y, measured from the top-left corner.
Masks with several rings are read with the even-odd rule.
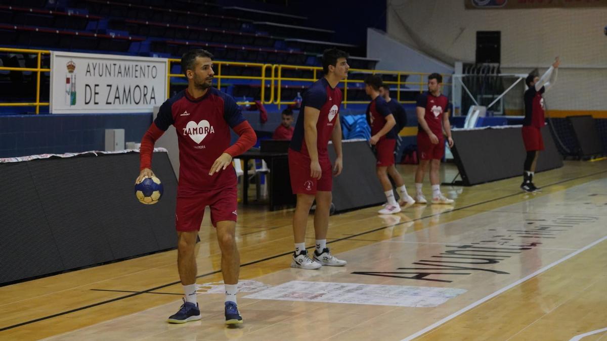
[[[443,129],[447,134],[449,147],[453,147],[451,138],[451,125],[449,124],[449,100],[441,95],[443,76],[432,73],[428,76],[428,91],[421,93],[417,100],[418,117],[418,152],[419,165],[415,170],[415,201],[420,204],[427,203],[421,186],[424,174],[430,164],[430,184],[432,184],[432,203],[450,204],[453,200],[441,193],[438,169],[445,154],[445,140]]]

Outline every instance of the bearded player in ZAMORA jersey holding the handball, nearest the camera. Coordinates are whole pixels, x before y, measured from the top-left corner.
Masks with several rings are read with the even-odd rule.
[[[169,323],[200,320],[194,247],[206,206],[211,208],[211,222],[222,251],[226,324],[242,323],[236,305],[240,255],[234,238],[237,191],[232,157],[252,147],[257,137],[236,101],[211,87],[214,75],[211,58],[211,53],[205,50],[190,50],[181,57],[188,88],[162,104],[141,140],[141,172],[137,182],[154,175],[151,169],[154,143],[171,124],[179,141],[175,225],[177,268],[185,298],[179,311],[169,317]],[[232,146],[230,128],[240,136]]]

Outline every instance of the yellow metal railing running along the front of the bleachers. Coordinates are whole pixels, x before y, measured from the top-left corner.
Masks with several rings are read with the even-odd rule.
[[[50,54],[50,51],[47,50],[28,50],[28,49],[8,49],[8,48],[0,48],[0,52],[13,52],[13,53],[29,53],[38,56],[38,62],[36,68],[28,68],[28,67],[0,67],[0,71],[21,71],[21,72],[36,72],[36,101],[32,103],[0,103],[0,107],[24,107],[24,106],[35,106],[36,113],[40,112],[41,106],[49,106],[49,103],[41,103],[40,102],[40,73],[41,72],[50,72],[50,69],[42,69],[42,55]],[[180,59],[177,58],[169,58],[168,66],[167,66],[167,77],[166,77],[166,95],[167,98],[171,93],[171,78],[185,78],[183,73],[171,73],[171,64],[174,62],[181,62]],[[263,64],[257,62],[227,62],[227,61],[213,61],[215,70],[215,78],[217,78],[217,88],[221,88],[222,80],[224,79],[251,79],[259,81],[259,85],[261,87],[260,100],[263,104],[277,104],[280,106],[282,104],[293,104],[294,101],[283,101],[282,96],[282,85],[283,81],[302,81],[314,83],[317,80],[317,75],[319,71],[322,71],[321,67],[314,66],[296,66],[296,65],[283,65],[283,64]],[[251,67],[254,69],[259,69],[259,76],[242,76],[242,75],[225,75],[222,72],[226,67],[231,66],[240,66],[240,67]],[[312,72],[312,78],[297,78],[297,77],[283,77],[283,70],[309,70]],[[268,75],[270,73],[270,75]],[[423,92],[426,89],[426,81],[424,79],[427,78],[429,73],[422,72],[406,72],[406,71],[388,71],[388,70],[367,70],[367,69],[350,69],[350,73],[370,73],[376,74],[379,73],[381,75],[395,75],[396,81],[384,81],[385,84],[396,85],[398,91],[396,92],[396,100],[401,101],[401,90],[404,89],[404,86],[413,86],[419,87],[419,92]],[[418,77],[419,79],[413,79],[410,81],[402,81],[403,76],[407,76],[407,78]],[[443,75],[443,78],[450,78],[450,75]],[[343,84],[342,84],[343,83]],[[340,84],[342,84],[344,89],[344,100],[342,103],[344,107],[347,107],[348,104],[364,104],[368,103],[368,101],[348,101],[348,84],[351,83],[364,83],[361,79],[344,79]],[[444,86],[449,86],[451,83],[444,83]],[[350,87],[351,89],[351,87]],[[267,91],[270,92],[270,96],[267,96]],[[415,103],[415,101],[404,101],[402,103]],[[240,101],[237,104],[254,104],[249,101]]]

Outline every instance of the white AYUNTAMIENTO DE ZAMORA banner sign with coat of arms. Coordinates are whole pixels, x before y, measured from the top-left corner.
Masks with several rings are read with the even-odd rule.
[[[166,100],[166,58],[53,51],[51,113],[152,112]]]

